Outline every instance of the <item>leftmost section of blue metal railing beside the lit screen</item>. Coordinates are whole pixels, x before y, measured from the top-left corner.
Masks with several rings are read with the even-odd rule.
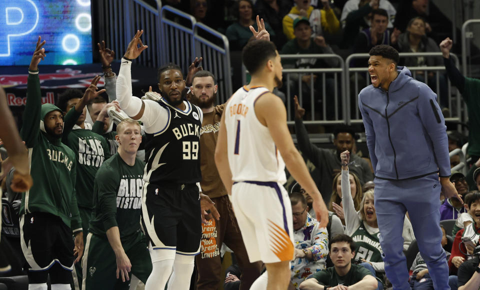
[[[138,57],[138,63],[158,67],[160,43],[160,19],[158,11],[142,0],[95,1],[98,15],[104,19],[104,29],[98,30],[98,39],[105,40],[107,47],[120,59],[136,29],[143,29],[143,42],[148,45]]]

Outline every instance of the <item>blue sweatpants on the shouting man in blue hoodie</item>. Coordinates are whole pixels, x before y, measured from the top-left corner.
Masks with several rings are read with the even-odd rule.
[[[417,179],[375,178],[375,211],[385,273],[393,290],[410,290],[403,254],[403,218],[408,211],[418,249],[428,266],[435,290],[449,290],[448,264],[441,247],[440,182],[436,173]]]

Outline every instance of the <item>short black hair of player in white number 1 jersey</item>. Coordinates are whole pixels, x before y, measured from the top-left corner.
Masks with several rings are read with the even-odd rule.
[[[276,56],[276,46],[268,40],[252,40],[241,51],[243,64],[250,74],[255,74],[270,58]]]

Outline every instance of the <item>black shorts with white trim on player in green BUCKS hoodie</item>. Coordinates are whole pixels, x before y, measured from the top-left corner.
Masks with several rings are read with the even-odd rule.
[[[71,229],[54,214],[21,215],[20,244],[30,271],[48,270],[55,262],[65,270],[73,269]]]

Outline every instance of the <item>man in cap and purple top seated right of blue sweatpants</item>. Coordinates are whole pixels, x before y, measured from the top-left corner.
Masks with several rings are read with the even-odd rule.
[[[451,172],[450,181],[455,184],[455,189],[460,196],[468,192],[468,184],[463,173],[458,171]],[[459,200],[456,198],[445,198],[445,201],[440,206],[440,220],[456,219],[461,212],[466,212],[466,210]]]

